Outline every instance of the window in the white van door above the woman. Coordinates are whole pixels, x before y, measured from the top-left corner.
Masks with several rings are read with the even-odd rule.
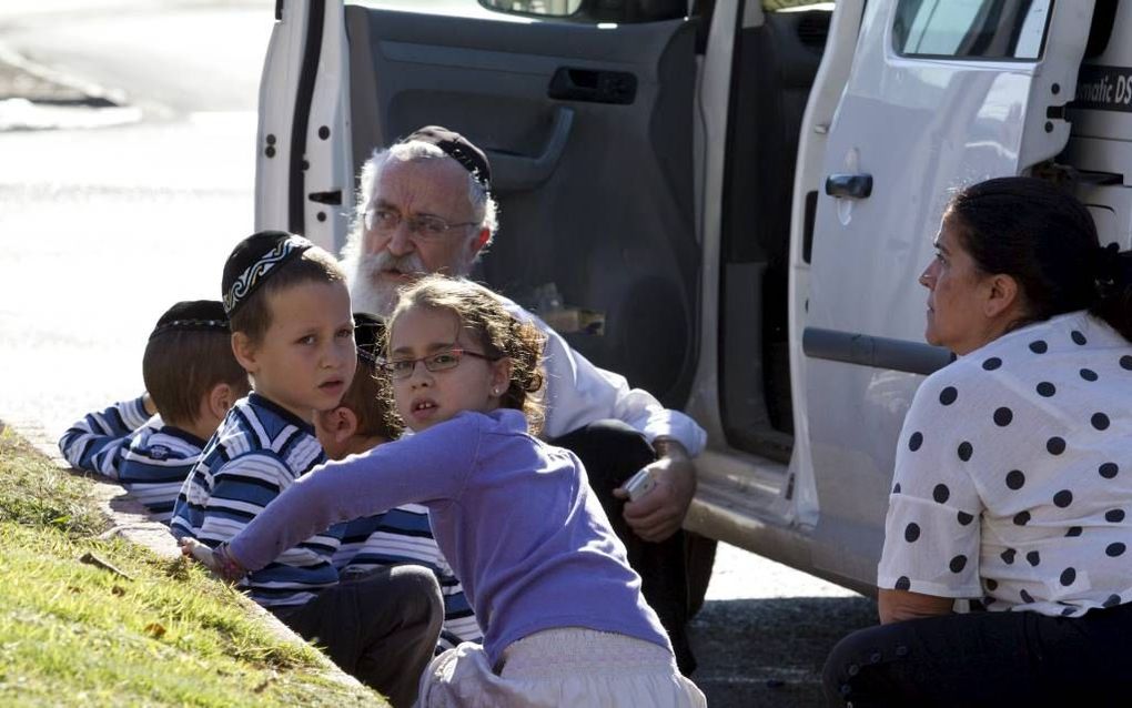
[[[900,0],[892,43],[903,57],[1032,60],[1053,0]]]

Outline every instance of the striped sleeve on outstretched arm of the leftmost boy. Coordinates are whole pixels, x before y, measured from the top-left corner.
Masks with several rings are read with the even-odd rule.
[[[114,403],[68,428],[59,440],[59,451],[71,467],[118,479],[123,451],[134,433],[149,419],[145,395]]]

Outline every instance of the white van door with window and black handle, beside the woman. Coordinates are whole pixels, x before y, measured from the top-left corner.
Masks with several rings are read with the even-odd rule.
[[[812,247],[792,251],[808,283],[792,312],[795,409],[825,574],[875,582],[903,416],[921,376],[949,361],[923,343],[917,282],[949,189],[1063,150],[1092,6],[871,1],[832,122],[804,127],[826,144],[821,182],[800,189],[816,193]]]

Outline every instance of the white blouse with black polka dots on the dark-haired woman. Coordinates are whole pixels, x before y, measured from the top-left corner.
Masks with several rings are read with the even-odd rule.
[[[1132,344],[1086,313],[916,392],[877,587],[1079,616],[1132,599]]]

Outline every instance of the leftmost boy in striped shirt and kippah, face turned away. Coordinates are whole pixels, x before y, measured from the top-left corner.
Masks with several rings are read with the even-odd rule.
[[[76,469],[118,481],[154,520],[168,524],[205,441],[248,392],[248,375],[232,356],[230,340],[218,300],[173,305],[146,343],[146,393],[72,425],[59,441],[63,458]]]

